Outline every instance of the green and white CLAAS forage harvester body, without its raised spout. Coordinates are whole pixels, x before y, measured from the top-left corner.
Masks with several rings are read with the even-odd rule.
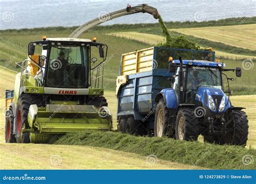
[[[96,38],[46,38],[28,45],[6,90],[7,143],[46,143],[67,132],[111,130],[103,97],[107,45]]]

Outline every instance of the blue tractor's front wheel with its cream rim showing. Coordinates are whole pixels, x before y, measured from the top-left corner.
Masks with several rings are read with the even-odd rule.
[[[199,135],[199,121],[194,115],[194,109],[180,109],[176,117],[176,139],[197,140]]]

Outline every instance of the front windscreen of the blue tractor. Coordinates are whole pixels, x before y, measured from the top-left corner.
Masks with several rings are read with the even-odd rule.
[[[197,66],[188,68],[186,89],[197,90],[199,86],[221,89],[221,76],[219,69]]]

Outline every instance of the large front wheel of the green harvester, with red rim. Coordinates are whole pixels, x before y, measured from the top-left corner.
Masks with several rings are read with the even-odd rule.
[[[21,95],[18,99],[15,118],[15,136],[17,143],[30,143],[29,133],[26,132],[22,135],[22,129],[24,126],[25,129],[30,128],[28,123],[28,113],[31,104],[37,104],[37,106],[41,106],[41,100],[30,94]]]

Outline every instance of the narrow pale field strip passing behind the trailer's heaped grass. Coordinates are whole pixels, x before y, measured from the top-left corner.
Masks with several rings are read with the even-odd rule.
[[[139,32],[135,32],[135,31],[114,32],[114,33],[107,33],[107,35],[141,41],[142,43],[147,43],[149,45],[157,45],[158,43],[164,42],[164,40],[165,40],[164,36],[159,36],[156,34],[139,33]],[[253,59],[253,58],[255,58],[255,56],[251,56],[251,55],[232,54],[232,53],[228,53],[228,52],[224,52],[224,51],[218,51],[216,49],[215,49],[215,55],[217,58],[230,58],[230,59],[237,59],[237,58]]]

